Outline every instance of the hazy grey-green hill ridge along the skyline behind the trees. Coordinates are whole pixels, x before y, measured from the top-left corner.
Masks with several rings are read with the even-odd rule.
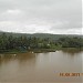
[[[6,33],[7,37],[12,35],[12,37],[27,37],[27,38],[40,38],[40,39],[46,39],[49,38],[50,40],[59,40],[60,38],[73,38],[73,37],[77,37],[77,38],[83,38],[83,35],[77,35],[77,34],[50,34],[50,33],[12,33],[12,32],[0,32],[0,35],[2,33]]]

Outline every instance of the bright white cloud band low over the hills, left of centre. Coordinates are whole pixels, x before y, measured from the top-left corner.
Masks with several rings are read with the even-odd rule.
[[[0,22],[0,30],[3,31],[10,31],[10,32],[21,32],[21,33],[50,33],[50,27],[49,25],[40,25],[40,24],[25,24],[14,21],[2,21]]]

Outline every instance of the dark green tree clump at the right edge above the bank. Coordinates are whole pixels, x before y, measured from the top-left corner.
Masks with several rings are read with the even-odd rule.
[[[59,41],[62,44],[62,48],[82,48],[83,39],[82,38],[61,38]]]

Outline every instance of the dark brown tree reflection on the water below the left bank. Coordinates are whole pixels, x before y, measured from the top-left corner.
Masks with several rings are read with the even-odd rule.
[[[35,58],[35,53],[18,53],[18,54],[0,54],[0,62],[18,59],[19,61],[25,61]]]

